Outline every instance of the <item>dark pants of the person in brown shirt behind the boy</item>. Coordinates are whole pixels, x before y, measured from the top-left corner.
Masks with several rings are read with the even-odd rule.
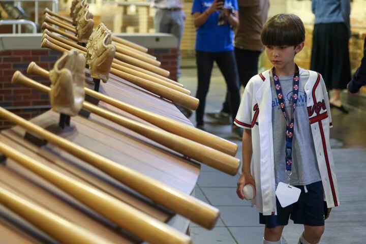
[[[248,81],[258,74],[258,60],[261,51],[252,51],[235,47],[235,59],[239,73],[240,85],[246,86]],[[229,106],[230,96],[226,92],[225,102],[223,103],[222,111],[231,113]]]

